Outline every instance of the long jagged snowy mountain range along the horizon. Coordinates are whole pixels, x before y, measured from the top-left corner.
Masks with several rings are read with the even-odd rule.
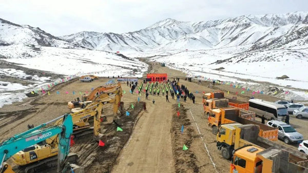
[[[164,51],[200,50],[249,45],[252,50],[305,44],[308,12],[243,15],[207,22],[181,22],[171,18],[139,31],[79,32],[60,37],[94,50]],[[282,41],[282,42],[281,42]],[[291,44],[290,44],[291,43]]]

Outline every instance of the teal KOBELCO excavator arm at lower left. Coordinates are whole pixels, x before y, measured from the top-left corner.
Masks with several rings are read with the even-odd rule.
[[[60,119],[62,119],[63,121],[62,125],[44,128],[48,124]],[[56,134],[60,134],[59,135],[60,145],[58,151],[58,153],[60,154],[58,155],[59,157],[58,157],[57,171],[61,172],[61,170],[64,167],[65,159],[69,153],[70,136],[73,132],[72,127],[73,127],[72,117],[69,114],[65,114],[64,116],[61,116],[47,123],[36,126],[23,133],[16,134],[15,136],[2,142],[2,144],[0,145],[0,158],[2,159],[0,172],[13,172],[11,170],[11,167],[7,163],[5,163],[6,160],[8,160],[18,151],[23,150],[34,144],[40,143],[42,141],[45,141],[46,139],[55,136]]]

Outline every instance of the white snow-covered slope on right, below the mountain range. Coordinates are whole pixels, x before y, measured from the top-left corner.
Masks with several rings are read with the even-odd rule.
[[[246,47],[239,49],[246,49]],[[166,66],[181,70],[190,76],[246,84],[260,91],[272,86],[272,83],[274,86],[278,85],[279,88],[290,91],[288,94],[276,94],[277,97],[288,100],[306,99],[307,92],[303,90],[308,90],[308,75],[304,73],[308,66],[308,59],[305,56],[308,54],[307,49],[296,51],[278,49],[247,54],[238,52],[234,47],[181,51],[171,55],[154,56],[149,60],[166,63]],[[228,61],[223,61],[226,59]],[[217,61],[223,62],[216,63]],[[224,69],[214,70],[220,67]],[[277,79],[282,75],[290,78]]]

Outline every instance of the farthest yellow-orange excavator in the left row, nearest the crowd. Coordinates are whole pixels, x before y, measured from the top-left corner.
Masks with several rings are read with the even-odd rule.
[[[110,84],[110,85],[104,85],[104,86],[99,86],[95,89],[93,89],[90,94],[82,95],[82,99],[80,100],[79,98],[76,98],[74,101],[70,101],[67,103],[68,108],[77,108],[77,107],[82,107],[84,108],[87,104],[91,103],[92,101],[95,100],[100,100],[103,98],[108,97],[111,94],[117,93],[120,95],[120,98],[122,96],[122,87],[121,83],[117,84]]]

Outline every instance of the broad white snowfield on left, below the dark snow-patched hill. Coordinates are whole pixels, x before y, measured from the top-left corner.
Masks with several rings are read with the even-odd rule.
[[[0,47],[1,48],[1,47]],[[23,67],[71,75],[77,72],[102,72],[98,75],[123,75],[141,77],[147,65],[138,60],[124,59],[121,56],[105,51],[82,49],[64,49],[40,47],[40,54],[20,59],[16,56],[8,62],[21,64]],[[2,52],[10,53],[10,51]],[[133,69],[137,71],[134,72]]]

